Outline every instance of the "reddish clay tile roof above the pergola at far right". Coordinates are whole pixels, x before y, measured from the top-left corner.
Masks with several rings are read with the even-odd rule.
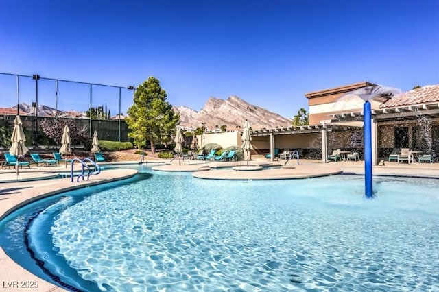
[[[398,106],[414,106],[421,104],[431,104],[439,101],[439,84],[426,85],[421,88],[407,91],[392,97],[385,103],[381,104],[380,108],[395,108]]]

